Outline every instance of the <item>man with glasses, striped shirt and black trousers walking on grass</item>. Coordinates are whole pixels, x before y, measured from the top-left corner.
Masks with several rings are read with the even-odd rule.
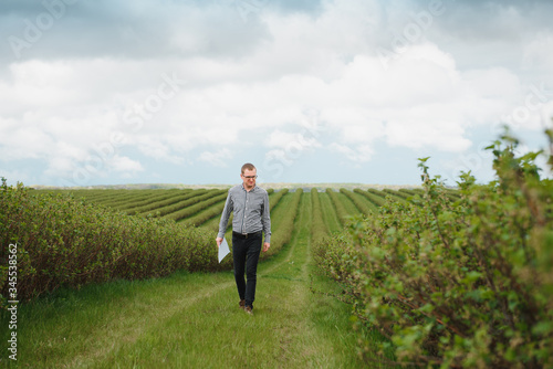
[[[232,219],[232,256],[234,262],[234,280],[237,282],[239,307],[253,314],[255,283],[259,254],[261,252],[262,233],[265,235],[263,252],[271,246],[271,217],[269,214],[269,194],[255,186],[257,169],[252,164],[244,164],[240,172],[242,184],[229,190],[222,210],[217,246],[221,245],[230,213]],[[244,268],[247,280],[244,280]]]

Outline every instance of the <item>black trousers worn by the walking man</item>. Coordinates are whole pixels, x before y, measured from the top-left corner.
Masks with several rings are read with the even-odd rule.
[[[258,280],[258,262],[263,236],[248,239],[232,235],[232,257],[234,262],[234,280],[240,299],[246,299],[246,306],[253,307],[255,299],[255,283]],[[244,273],[247,280],[244,280]]]

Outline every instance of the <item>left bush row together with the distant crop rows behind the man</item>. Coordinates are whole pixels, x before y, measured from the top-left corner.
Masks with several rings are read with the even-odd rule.
[[[1,187],[0,241],[3,245],[17,242],[24,255],[19,264],[21,299],[61,286],[156,277],[180,268],[232,267],[232,257],[218,263],[215,247],[227,189],[32,191],[4,182]],[[316,217],[312,229],[317,239],[341,231],[351,217],[376,211],[385,198],[406,201],[414,193],[345,189],[268,192],[272,238],[271,249],[261,259],[279,253],[290,242],[304,197],[311,202],[313,196]],[[230,232],[228,226],[229,243]],[[4,247],[0,260],[8,260]],[[6,274],[0,275],[2,295],[7,281]]]

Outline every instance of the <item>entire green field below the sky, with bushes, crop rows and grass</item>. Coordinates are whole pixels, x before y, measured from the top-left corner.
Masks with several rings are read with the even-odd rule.
[[[446,188],[420,159],[421,188],[267,188],[253,316],[217,262],[228,187],[4,181],[0,363],[551,367],[553,182],[497,145],[488,184]]]

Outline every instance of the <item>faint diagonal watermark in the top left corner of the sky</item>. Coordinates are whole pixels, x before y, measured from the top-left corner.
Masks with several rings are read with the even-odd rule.
[[[62,19],[67,7],[73,6],[79,0],[43,0],[41,2],[44,11],[40,12],[34,19],[23,19],[23,30],[20,35],[10,35],[8,43],[15,59],[21,59],[24,50],[31,49],[36,44],[45,32],[51,30],[55,22]]]

